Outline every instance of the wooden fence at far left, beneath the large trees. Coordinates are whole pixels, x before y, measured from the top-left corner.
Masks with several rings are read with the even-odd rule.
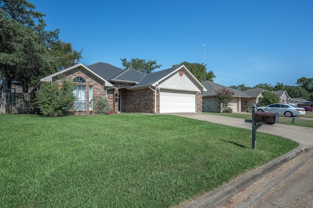
[[[32,94],[29,93],[0,93],[0,113],[33,113]]]

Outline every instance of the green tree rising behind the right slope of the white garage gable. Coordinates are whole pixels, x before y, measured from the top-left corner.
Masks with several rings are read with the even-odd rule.
[[[184,65],[198,80],[204,81],[208,80],[213,82],[213,79],[215,78],[215,75],[213,71],[206,72],[205,66],[203,63],[189,63],[189,62],[182,62],[180,64],[174,64],[173,67],[179,66],[179,65]],[[205,77],[204,77],[205,73]]]

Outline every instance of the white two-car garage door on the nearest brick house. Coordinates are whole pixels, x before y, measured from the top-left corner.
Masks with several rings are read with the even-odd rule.
[[[160,113],[196,112],[196,103],[196,92],[160,91]]]

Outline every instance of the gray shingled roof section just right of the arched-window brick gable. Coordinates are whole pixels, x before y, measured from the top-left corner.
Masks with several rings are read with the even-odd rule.
[[[110,81],[112,77],[124,71],[121,68],[103,62],[90,64],[87,67],[90,70],[94,71],[97,75],[102,76],[104,79],[108,81]]]

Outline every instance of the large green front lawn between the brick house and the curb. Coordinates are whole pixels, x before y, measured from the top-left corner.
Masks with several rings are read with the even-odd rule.
[[[0,114],[0,207],[173,207],[296,142],[172,115]]]

